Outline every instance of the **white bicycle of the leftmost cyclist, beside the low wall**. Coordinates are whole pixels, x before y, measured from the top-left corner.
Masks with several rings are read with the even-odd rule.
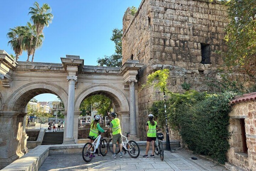
[[[106,156],[108,152],[107,140],[102,138],[101,133],[97,136],[93,143],[86,143],[84,145],[82,150],[82,157],[84,161],[90,162],[94,157],[94,153],[98,154],[98,147],[100,147],[101,155]]]

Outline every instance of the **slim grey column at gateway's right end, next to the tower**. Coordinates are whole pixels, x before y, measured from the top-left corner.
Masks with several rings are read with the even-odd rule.
[[[136,79],[130,79],[130,131],[131,138],[137,138],[137,128],[136,128],[136,99],[135,99],[135,83]]]

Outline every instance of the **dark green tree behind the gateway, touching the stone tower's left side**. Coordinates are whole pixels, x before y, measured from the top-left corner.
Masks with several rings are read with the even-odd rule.
[[[111,56],[104,56],[104,58],[98,58],[98,64],[100,66],[106,65],[107,67],[121,67],[122,66],[122,36],[121,29],[115,28],[112,31],[111,41],[115,43],[115,54]]]

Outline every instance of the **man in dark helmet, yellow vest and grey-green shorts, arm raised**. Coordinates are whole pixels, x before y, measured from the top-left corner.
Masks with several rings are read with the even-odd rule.
[[[108,113],[110,114],[110,113]],[[112,158],[117,158],[116,157],[116,144],[118,142],[120,146],[120,157],[123,157],[122,154],[122,131],[121,131],[121,126],[120,126],[120,120],[117,118],[116,113],[111,113],[112,121],[110,122],[110,131],[112,131],[112,144],[113,144],[113,152],[114,154],[111,156]]]

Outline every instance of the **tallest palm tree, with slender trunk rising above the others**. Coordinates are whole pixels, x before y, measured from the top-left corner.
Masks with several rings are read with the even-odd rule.
[[[40,7],[38,2],[35,2],[33,5],[34,7],[29,8],[30,12],[28,14],[31,14],[31,21],[33,21],[34,25],[36,26],[37,38],[35,47],[37,47],[38,38],[43,32],[43,28],[45,26],[48,27],[52,22],[53,14],[50,13],[51,7],[48,4],[43,4],[43,6]],[[31,62],[34,61],[35,51],[36,49],[33,51]]]

